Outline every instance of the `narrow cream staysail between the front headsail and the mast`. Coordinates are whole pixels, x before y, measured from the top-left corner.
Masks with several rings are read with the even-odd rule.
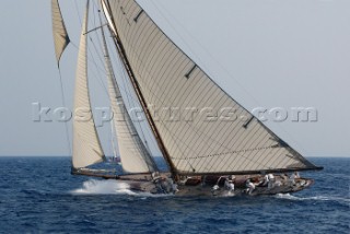
[[[108,95],[114,113],[113,124],[117,133],[122,169],[126,173],[155,172],[158,171],[156,165],[139,137],[122,101],[119,86],[115,80],[103,27],[101,31],[108,80]]]

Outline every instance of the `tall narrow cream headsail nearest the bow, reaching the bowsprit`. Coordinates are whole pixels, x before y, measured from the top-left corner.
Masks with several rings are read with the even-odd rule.
[[[91,114],[91,103],[88,84],[88,55],[86,38],[89,0],[86,3],[85,19],[82,25],[80,38],[78,68],[74,92],[74,122],[73,122],[73,167],[85,167],[104,160],[104,153],[100,143],[96,127]],[[84,116],[79,119],[78,115]],[[82,117],[80,116],[80,117]],[[90,116],[86,118],[86,116]]]

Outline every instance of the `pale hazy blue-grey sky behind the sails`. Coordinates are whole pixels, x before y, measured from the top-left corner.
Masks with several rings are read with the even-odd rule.
[[[60,65],[71,108],[84,1],[60,3],[73,43]],[[295,150],[305,156],[350,156],[350,1],[139,3],[234,100],[252,112],[271,110],[265,124]],[[62,106],[50,1],[4,1],[0,21],[0,155],[69,155],[65,124],[33,121],[33,103]],[[108,106],[98,69],[92,77],[93,105]],[[295,107],[316,109],[317,120],[292,121]],[[288,113],[284,121],[276,121],[276,108]],[[98,132],[112,154],[110,127]]]

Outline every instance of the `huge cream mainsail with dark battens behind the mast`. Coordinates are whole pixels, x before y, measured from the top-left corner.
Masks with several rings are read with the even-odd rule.
[[[133,85],[142,95],[140,101],[156,110],[177,110],[174,120],[144,109],[172,172],[203,175],[317,168],[218,86],[135,0],[103,0],[103,4]],[[208,112],[213,117],[210,121],[199,115],[208,116]],[[226,118],[215,119],[219,113]],[[234,116],[245,116],[245,121]]]

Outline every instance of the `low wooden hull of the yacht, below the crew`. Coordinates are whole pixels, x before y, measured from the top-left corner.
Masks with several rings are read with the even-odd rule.
[[[235,189],[231,191],[225,188],[224,179],[226,176],[211,177],[190,177],[186,182],[177,183],[177,189],[170,184],[168,174],[162,174],[163,184],[154,183],[150,175],[126,175],[119,176],[117,180],[126,183],[131,190],[150,192],[150,194],[174,194],[175,196],[260,196],[260,195],[277,195],[291,194],[303,190],[314,184],[310,178],[298,178],[291,182],[289,178],[280,175],[275,175],[276,182],[273,186],[268,187],[256,185],[255,189],[249,191],[246,186],[246,179],[261,178],[260,175],[236,176]],[[214,186],[217,189],[213,189]]]

